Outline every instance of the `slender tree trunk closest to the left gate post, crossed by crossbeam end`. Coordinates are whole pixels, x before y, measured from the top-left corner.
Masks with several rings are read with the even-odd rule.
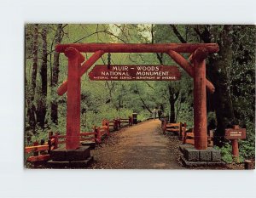
[[[55,44],[61,43],[62,39],[62,24],[57,25],[57,30],[55,33]],[[60,53],[54,52],[54,63],[53,63],[53,72],[52,72],[52,94],[57,94],[56,93],[56,86],[59,80],[59,56]],[[54,97],[55,98],[55,97]],[[50,117],[51,121],[54,122],[55,124],[58,124],[58,103],[54,99],[51,102],[51,112],[50,112]]]

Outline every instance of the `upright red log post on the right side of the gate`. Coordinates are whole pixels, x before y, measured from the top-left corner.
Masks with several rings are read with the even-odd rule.
[[[195,149],[207,149],[206,48],[197,48],[194,63],[194,132]]]

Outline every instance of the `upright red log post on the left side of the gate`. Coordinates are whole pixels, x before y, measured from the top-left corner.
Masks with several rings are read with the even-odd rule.
[[[80,100],[81,100],[81,77],[80,77],[80,53],[75,48],[67,48],[65,55],[68,58],[67,73],[67,138],[66,149],[79,148],[80,133]]]

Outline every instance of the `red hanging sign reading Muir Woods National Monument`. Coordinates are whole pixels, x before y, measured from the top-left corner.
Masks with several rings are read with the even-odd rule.
[[[181,73],[175,65],[95,65],[92,81],[177,81]]]

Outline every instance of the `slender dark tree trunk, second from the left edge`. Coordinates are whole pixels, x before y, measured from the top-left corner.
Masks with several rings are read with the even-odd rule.
[[[46,26],[42,31],[42,65],[41,76],[41,95],[38,99],[37,121],[40,127],[44,128],[46,115],[46,96],[47,96],[47,31]]]

